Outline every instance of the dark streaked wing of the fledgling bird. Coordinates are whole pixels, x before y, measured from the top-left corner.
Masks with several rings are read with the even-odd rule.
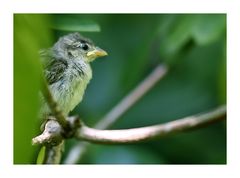
[[[68,64],[64,60],[49,60],[48,64],[44,66],[44,75],[49,85],[61,80],[64,77]]]

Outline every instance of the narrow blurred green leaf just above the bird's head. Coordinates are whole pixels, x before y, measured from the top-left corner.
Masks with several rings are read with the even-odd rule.
[[[69,31],[69,32],[100,32],[100,26],[87,19],[79,19],[72,17],[58,17],[55,16],[51,27],[55,30]]]

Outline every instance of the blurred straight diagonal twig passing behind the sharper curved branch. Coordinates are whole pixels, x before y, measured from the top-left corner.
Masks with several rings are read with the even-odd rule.
[[[126,97],[124,97],[109,113],[107,113],[96,124],[97,129],[106,129],[120,116],[122,116],[130,107],[132,107],[139,99],[141,99],[160,79],[162,79],[168,71],[168,67],[159,64],[153,71],[141,82],[134,90],[132,90]],[[90,144],[87,142],[78,143],[71,148],[64,163],[74,164],[86,153],[87,147]]]

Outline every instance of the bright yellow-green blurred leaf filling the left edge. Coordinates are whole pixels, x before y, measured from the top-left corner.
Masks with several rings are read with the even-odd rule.
[[[40,60],[38,51],[48,44],[46,16],[14,15],[14,163],[35,162],[37,147],[31,139],[39,130],[38,94]],[[46,47],[46,46],[45,46]]]

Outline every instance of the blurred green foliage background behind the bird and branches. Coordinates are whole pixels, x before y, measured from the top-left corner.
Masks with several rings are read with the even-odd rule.
[[[93,126],[159,63],[170,70],[111,129],[142,127],[208,111],[226,103],[225,14],[15,14],[14,163],[34,164],[38,51],[78,31],[109,56],[92,63],[93,79],[71,114]],[[63,160],[79,141],[66,143]],[[92,144],[78,163],[225,164],[226,123],[128,145]]]

